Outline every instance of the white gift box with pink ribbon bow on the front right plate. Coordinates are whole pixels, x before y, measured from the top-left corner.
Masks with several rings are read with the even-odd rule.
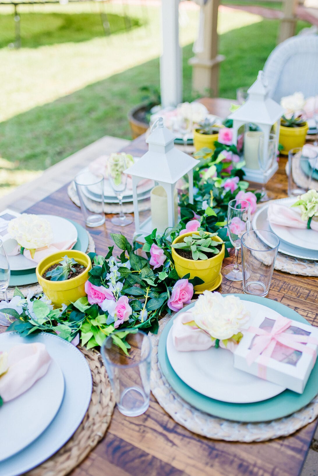
[[[318,353],[318,328],[273,315],[253,317],[249,324],[234,367],[303,393]]]

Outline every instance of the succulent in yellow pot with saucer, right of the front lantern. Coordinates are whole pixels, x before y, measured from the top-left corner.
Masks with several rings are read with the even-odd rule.
[[[201,278],[204,283],[195,286],[195,292],[216,289],[220,283],[220,273],[225,254],[223,240],[217,233],[204,230],[184,233],[174,239],[172,258],[179,278],[190,273],[190,278]]]

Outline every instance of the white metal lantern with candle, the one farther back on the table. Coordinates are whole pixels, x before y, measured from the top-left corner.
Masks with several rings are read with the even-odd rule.
[[[257,79],[247,91],[246,102],[239,109],[232,112],[228,119],[233,119],[233,144],[237,143],[238,129],[246,126],[244,133],[244,159],[246,167],[243,168],[246,180],[263,183],[264,174],[258,166],[258,142],[261,132],[264,133],[264,158],[268,150],[269,134],[274,130],[279,138],[280,118],[284,114],[284,109],[273,99],[268,97],[268,84],[263,71],[258,72]],[[260,131],[249,131],[248,124],[255,124]],[[271,178],[278,169],[275,161],[273,166],[267,171],[265,182]]]

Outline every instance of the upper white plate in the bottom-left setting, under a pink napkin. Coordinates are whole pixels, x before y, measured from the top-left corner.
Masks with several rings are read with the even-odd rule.
[[[19,342],[12,334],[0,334],[0,350],[9,351]],[[21,342],[20,342],[21,343]],[[30,445],[57,414],[64,396],[64,377],[54,360],[47,373],[26,392],[0,409],[0,461]],[[1,467],[2,463],[0,463]]]

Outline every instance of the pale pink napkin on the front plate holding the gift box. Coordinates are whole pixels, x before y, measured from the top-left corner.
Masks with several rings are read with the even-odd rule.
[[[191,311],[181,312],[174,319],[172,327],[172,337],[174,341],[174,347],[180,352],[188,352],[190,350],[207,350],[210,347],[215,346],[215,340],[211,339],[211,336],[204,330],[199,329],[196,326],[188,326],[187,322],[193,321]],[[230,340],[227,346],[220,341],[219,346],[226,348],[231,352],[234,352],[236,344]]]

